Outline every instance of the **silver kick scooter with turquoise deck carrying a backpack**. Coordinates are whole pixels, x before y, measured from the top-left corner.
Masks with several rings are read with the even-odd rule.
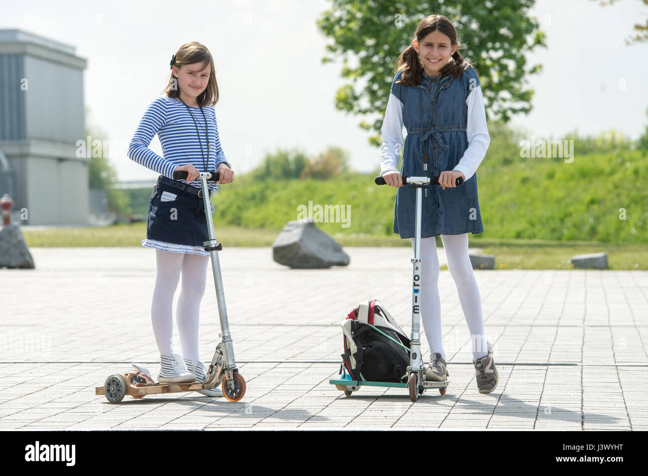
[[[376,185],[385,185],[383,177],[376,177]],[[410,365],[407,368],[407,383],[392,382],[373,382],[373,381],[351,381],[351,380],[329,380],[329,383],[335,385],[338,390],[351,396],[351,392],[368,385],[372,387],[406,387],[410,391],[410,400],[416,402],[419,396],[427,389],[439,389],[441,395],[445,395],[448,388],[449,380],[444,381],[426,381],[425,367],[421,358],[421,337],[419,331],[419,308],[421,306],[421,205],[422,191],[424,188],[430,188],[430,185],[439,185],[439,177],[406,177],[402,176],[403,185],[407,184],[411,188],[416,188],[416,210],[415,210],[415,229],[414,229],[414,258],[412,263],[412,293],[411,293],[411,344],[410,344]],[[463,178],[459,177],[455,181],[457,187],[463,183]],[[353,383],[353,385],[351,385]]]

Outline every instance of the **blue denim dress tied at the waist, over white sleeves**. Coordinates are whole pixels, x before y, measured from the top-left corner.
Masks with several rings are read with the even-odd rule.
[[[397,83],[391,93],[403,103],[403,123],[407,137],[400,173],[404,176],[438,177],[459,163],[468,147],[468,106],[466,99],[480,84],[476,71],[469,67],[459,78],[422,73],[419,86]],[[426,148],[425,148],[426,146]],[[428,170],[423,170],[424,150]],[[416,190],[408,185],[396,192],[394,232],[400,238],[413,238]],[[477,174],[463,185],[443,190],[438,185],[424,189],[421,209],[421,238],[438,234],[482,233]]]

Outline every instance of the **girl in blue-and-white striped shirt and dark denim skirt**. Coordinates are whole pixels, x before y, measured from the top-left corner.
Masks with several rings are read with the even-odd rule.
[[[162,96],[150,102],[133,134],[128,157],[160,174],[148,210],[145,247],[156,249],[156,284],[151,320],[160,352],[161,382],[200,382],[205,365],[198,356],[198,314],[207,283],[209,239],[198,172],[220,173],[220,183],[230,183],[234,172],[220,146],[214,105],[218,84],[209,50],[200,43],[182,45],[170,62],[171,76]],[[148,148],[157,134],[160,157]],[[186,180],[173,180],[183,170]],[[209,182],[212,196],[217,190]],[[212,207],[212,213],[214,212]],[[182,275],[176,308],[182,355],[172,346],[173,296]],[[183,359],[184,357],[184,359]],[[220,391],[202,391],[218,396]]]

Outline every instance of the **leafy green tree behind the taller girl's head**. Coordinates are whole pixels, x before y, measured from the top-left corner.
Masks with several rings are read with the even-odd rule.
[[[419,21],[430,14],[448,17],[457,29],[461,54],[476,63],[491,119],[507,122],[511,115],[531,110],[533,89],[526,87],[524,78],[540,71],[542,65],[527,68],[524,55],[537,46],[546,47],[537,20],[529,16],[534,0],[331,3],[330,10],[318,19],[318,27],[331,41],[329,56],[322,62],[343,59],[341,76],[349,82],[338,89],[336,108],[367,117],[360,127],[376,132],[370,143],[380,144],[380,127],[400,52],[411,44]]]

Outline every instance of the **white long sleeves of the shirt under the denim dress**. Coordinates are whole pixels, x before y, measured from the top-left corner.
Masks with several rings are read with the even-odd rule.
[[[486,155],[491,143],[491,136],[486,125],[486,109],[484,108],[481,86],[473,89],[466,98],[468,106],[468,122],[466,134],[468,147],[453,170],[458,170],[468,180],[474,175]],[[385,120],[382,123],[382,146],[380,146],[380,176],[394,170],[400,160],[403,145],[403,110],[404,104],[392,93],[389,93]]]

